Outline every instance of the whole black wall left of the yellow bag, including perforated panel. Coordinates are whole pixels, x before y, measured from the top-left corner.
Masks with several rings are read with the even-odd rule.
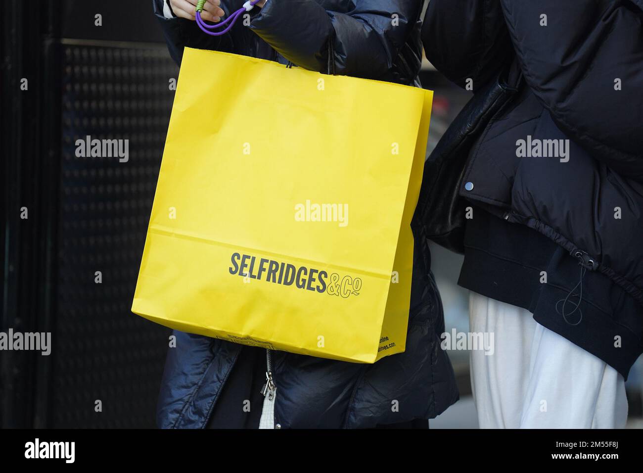
[[[0,351],[0,426],[152,427],[168,330],[130,308],[177,67],[151,0],[9,0],[0,15],[0,331],[53,345]],[[78,158],[86,135],[129,140],[129,161]]]

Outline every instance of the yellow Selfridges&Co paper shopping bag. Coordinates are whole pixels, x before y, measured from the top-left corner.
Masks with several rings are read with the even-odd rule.
[[[316,357],[404,351],[432,97],[186,48],[132,311]]]

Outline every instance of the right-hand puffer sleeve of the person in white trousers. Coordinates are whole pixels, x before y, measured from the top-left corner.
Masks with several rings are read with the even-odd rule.
[[[525,80],[556,125],[613,171],[643,181],[643,0],[502,6]]]

